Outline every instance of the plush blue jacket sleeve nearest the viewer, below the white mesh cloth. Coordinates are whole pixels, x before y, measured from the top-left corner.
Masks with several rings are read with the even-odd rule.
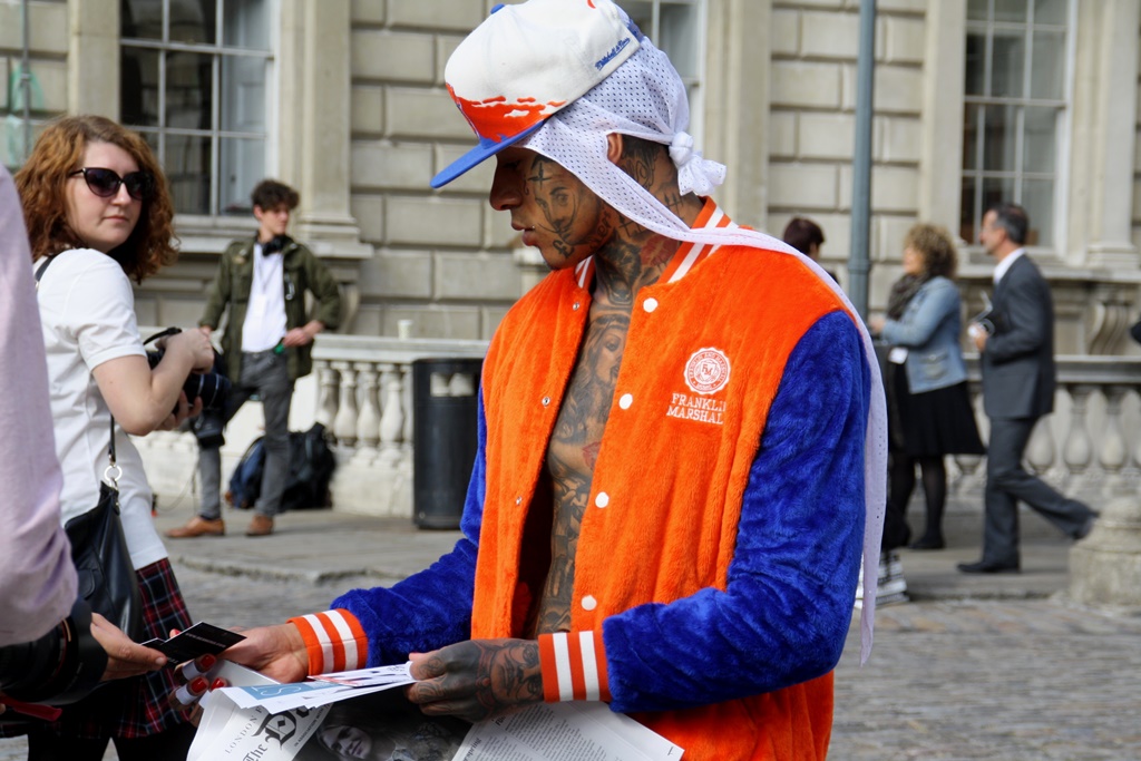
[[[602,623],[612,709],[707,705],[835,667],[859,575],[869,387],[851,319],[819,319],[770,408],[727,588]]]

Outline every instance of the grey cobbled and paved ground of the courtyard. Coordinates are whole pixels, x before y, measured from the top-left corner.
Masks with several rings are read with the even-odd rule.
[[[185,520],[164,512],[160,527]],[[298,512],[268,539],[169,542],[191,612],[222,625],[276,623],[321,609],[342,589],[390,583],[454,543],[403,520]],[[836,674],[830,759],[1141,759],[1141,620],[1068,605],[1068,542],[1025,521],[1023,569],[968,577],[977,516],[948,519],[950,547],[905,552],[914,601],[881,608],[872,659],[858,665],[858,616]],[[0,761],[24,758],[0,740]],[[108,752],[107,759],[114,759]]]

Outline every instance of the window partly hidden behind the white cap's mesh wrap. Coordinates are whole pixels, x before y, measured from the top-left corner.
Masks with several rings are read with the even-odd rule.
[[[705,75],[704,0],[630,0],[622,8],[642,33],[670,56],[689,94],[689,129],[702,147],[703,91]]]

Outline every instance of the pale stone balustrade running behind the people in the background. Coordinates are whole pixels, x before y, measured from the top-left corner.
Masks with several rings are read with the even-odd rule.
[[[314,421],[331,432],[339,468],[334,509],[383,516],[412,516],[413,394],[416,359],[482,358],[485,341],[398,339],[323,334],[314,348],[314,373],[299,383],[291,428]],[[1141,487],[1141,358],[1061,356],[1058,358],[1055,412],[1044,418],[1027,447],[1030,468],[1067,494],[1097,507],[1138,494]],[[978,358],[968,357],[979,430],[988,426],[979,394]],[[470,395],[478,379],[458,374],[434,378],[435,395]],[[248,405],[250,406],[250,405]],[[253,405],[256,406],[256,405]],[[227,430],[226,472],[258,435],[260,411],[246,413],[241,428]],[[178,434],[138,439],[147,475],[162,495],[192,489],[195,448]],[[168,456],[170,451],[177,456]],[[980,511],[986,479],[982,459],[948,462],[952,510]]]

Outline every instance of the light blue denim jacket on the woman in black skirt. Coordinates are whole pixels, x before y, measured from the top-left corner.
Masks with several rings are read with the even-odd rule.
[[[932,277],[920,288],[898,321],[889,319],[880,338],[907,347],[904,370],[912,394],[947,388],[966,380],[958,289],[946,277]]]

